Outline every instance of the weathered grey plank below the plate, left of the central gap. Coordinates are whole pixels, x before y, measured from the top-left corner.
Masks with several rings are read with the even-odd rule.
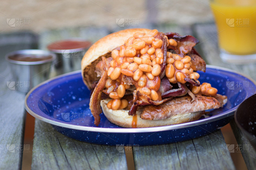
[[[48,123],[35,121],[32,170],[127,169],[125,154],[115,146],[77,141],[60,134]]]

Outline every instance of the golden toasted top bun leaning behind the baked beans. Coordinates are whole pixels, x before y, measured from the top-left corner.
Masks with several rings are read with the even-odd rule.
[[[86,67],[91,66],[92,62],[96,61],[99,57],[105,56],[106,54],[110,53],[112,50],[116,49],[117,47],[124,45],[126,40],[128,40],[128,38],[133,36],[135,33],[149,33],[149,31],[151,31],[151,29],[145,29],[145,28],[124,29],[124,30],[109,34],[107,36],[104,36],[103,38],[95,42],[84,54],[84,57],[82,58],[82,62],[81,62],[82,78],[86,86],[89,89],[92,88],[92,85],[91,85],[92,80],[88,80],[88,78],[84,76],[86,74],[84,73],[84,70],[86,69]],[[95,66],[96,65],[93,64],[94,68]]]

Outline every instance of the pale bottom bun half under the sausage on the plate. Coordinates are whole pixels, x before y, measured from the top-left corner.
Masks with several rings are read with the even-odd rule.
[[[132,128],[133,123],[133,116],[128,114],[128,110],[125,109],[118,109],[112,110],[107,107],[107,103],[110,99],[104,99],[100,101],[100,106],[102,107],[102,111],[107,119],[121,127]],[[163,119],[163,120],[144,120],[140,118],[140,113],[142,113],[141,109],[138,109],[135,116],[137,116],[137,128],[144,128],[144,127],[159,127],[159,126],[167,126],[167,125],[175,125],[180,123],[186,123],[189,121],[198,120],[201,115],[202,111],[193,112],[193,113],[180,113],[172,115],[170,118]],[[135,118],[136,120],[136,118]]]

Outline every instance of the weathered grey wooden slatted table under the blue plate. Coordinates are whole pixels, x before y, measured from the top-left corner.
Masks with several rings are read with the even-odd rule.
[[[207,64],[230,68],[256,80],[256,64],[238,66],[226,64],[219,58],[217,47],[217,32],[213,23],[195,24],[179,27],[175,25],[145,25],[142,27],[156,28],[162,32],[178,32],[181,35],[193,35],[200,43],[196,49],[202,54]],[[34,35],[23,33],[20,42],[15,44],[1,44],[1,38],[8,40],[10,35],[0,36],[0,169],[20,169],[22,152],[17,146],[23,145],[25,122],[24,98],[25,94],[16,90],[9,90],[6,82],[12,81],[12,75],[4,55],[17,49],[36,48],[46,49],[46,45],[55,40],[84,37],[96,41],[109,32],[106,28],[73,28],[49,30]],[[17,36],[17,35],[16,35]],[[27,41],[28,36],[34,37]],[[39,42],[35,45],[35,37]],[[26,39],[26,40],[25,40]],[[234,121],[231,127],[239,145],[249,145],[249,150],[242,152],[249,170],[256,167],[256,152],[237,128]],[[37,169],[235,169],[230,152],[221,130],[203,137],[184,142],[159,146],[127,146],[126,152],[117,151],[116,146],[90,144],[71,139],[60,134],[54,128],[40,120],[35,120],[35,134],[33,139],[32,170]],[[13,147],[15,147],[13,149]]]

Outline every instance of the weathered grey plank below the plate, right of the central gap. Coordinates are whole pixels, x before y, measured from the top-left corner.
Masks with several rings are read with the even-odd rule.
[[[139,147],[136,169],[235,169],[221,131],[197,139]]]

